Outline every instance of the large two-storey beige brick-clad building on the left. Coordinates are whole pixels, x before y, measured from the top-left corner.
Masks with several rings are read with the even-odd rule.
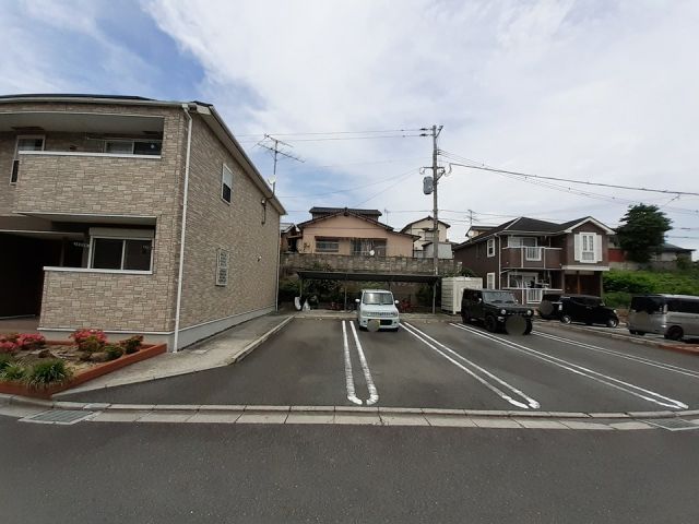
[[[0,97],[0,317],[171,349],[275,307],[285,211],[209,104]]]

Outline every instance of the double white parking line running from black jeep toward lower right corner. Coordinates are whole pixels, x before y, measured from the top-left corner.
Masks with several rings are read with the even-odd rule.
[[[637,396],[644,401],[652,402],[654,404],[657,404],[664,407],[670,407],[672,409],[687,409],[688,407],[687,404],[683,402],[676,401],[674,398],[668,398],[667,396],[661,395],[660,393],[655,393],[654,391],[650,391],[650,390],[640,388],[638,385],[631,384],[629,382],[615,379],[614,377],[609,377],[609,376],[600,373],[597,371],[593,371],[592,369],[585,368],[583,366],[579,366],[577,364],[569,362],[567,360],[564,360],[562,358],[554,357],[552,355],[537,352],[536,349],[532,349],[531,347],[523,346],[516,342],[507,341],[505,338],[501,338],[496,335],[491,335],[489,333],[485,334],[474,327],[470,327],[462,324],[454,324],[450,322],[449,325],[466,331],[474,335],[481,336],[483,338],[487,338],[489,341],[496,342],[498,344],[507,346],[517,352],[530,355],[534,358],[538,358],[540,360],[544,360],[545,362],[552,364],[554,366],[558,366],[559,368],[566,369],[572,373],[579,374],[581,377],[587,377],[591,380],[603,383],[616,390],[624,391],[625,393]],[[662,401],[665,401],[665,402],[662,402]]]

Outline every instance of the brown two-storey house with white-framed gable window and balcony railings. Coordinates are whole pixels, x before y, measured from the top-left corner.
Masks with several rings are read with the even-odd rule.
[[[613,234],[591,216],[565,224],[519,217],[457,246],[454,259],[523,303],[540,302],[547,290],[600,296]]]

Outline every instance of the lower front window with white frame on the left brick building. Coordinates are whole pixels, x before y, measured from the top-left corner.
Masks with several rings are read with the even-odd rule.
[[[90,267],[94,270],[151,271],[153,231],[93,228],[90,238]],[[142,235],[141,238],[139,238]]]

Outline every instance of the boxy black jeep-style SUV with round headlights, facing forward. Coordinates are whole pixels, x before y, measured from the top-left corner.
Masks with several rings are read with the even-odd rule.
[[[510,291],[500,289],[464,289],[461,298],[463,323],[483,322],[491,332],[503,330],[508,333],[532,332],[534,311],[521,306]]]

